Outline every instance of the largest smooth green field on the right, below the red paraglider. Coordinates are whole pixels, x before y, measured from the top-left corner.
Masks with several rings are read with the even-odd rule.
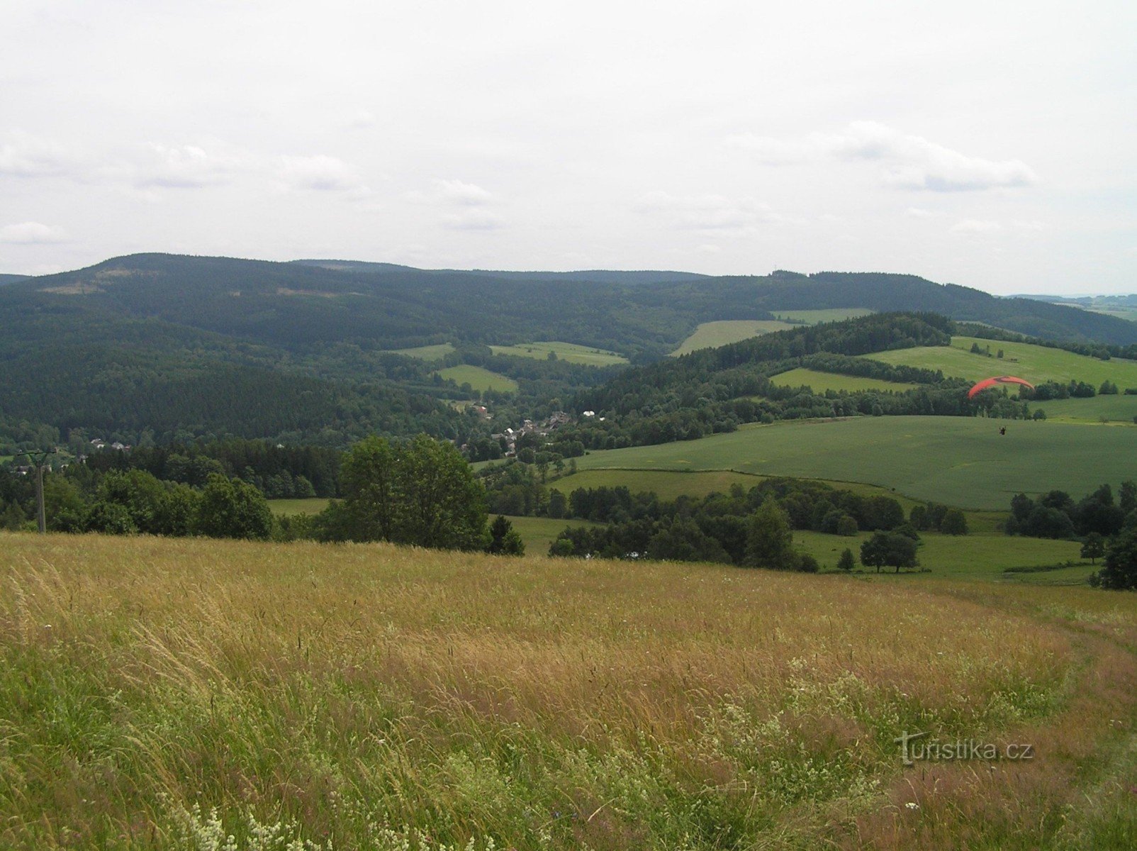
[[[1005,426],[1006,436],[998,433]],[[963,416],[744,426],[659,446],[594,451],[581,470],[737,470],[860,481],[914,499],[1006,511],[1021,491],[1084,495],[1137,478],[1137,429]],[[1061,460],[1061,463],[1055,463]]]

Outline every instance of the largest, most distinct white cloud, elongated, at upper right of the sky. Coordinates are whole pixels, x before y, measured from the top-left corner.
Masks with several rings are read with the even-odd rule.
[[[811,133],[798,140],[741,133],[725,141],[771,165],[820,159],[877,163],[883,182],[903,189],[955,192],[1038,182],[1038,175],[1021,159],[968,156],[877,122],[853,122],[840,133]]]

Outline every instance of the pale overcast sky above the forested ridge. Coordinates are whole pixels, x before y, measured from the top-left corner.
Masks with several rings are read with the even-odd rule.
[[[1131,0],[0,0],[0,272],[172,251],[1137,292]]]

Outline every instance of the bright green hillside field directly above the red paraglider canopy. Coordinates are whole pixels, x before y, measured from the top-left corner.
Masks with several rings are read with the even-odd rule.
[[[990,346],[993,357],[971,354],[973,342],[980,347]],[[1003,349],[1002,358],[994,357],[998,349]],[[922,366],[927,370],[943,370],[947,377],[965,378],[971,381],[979,381],[990,375],[1018,375],[1032,383],[1047,380],[1067,382],[1077,379],[1096,388],[1109,379],[1121,389],[1137,387],[1137,361],[1121,358],[1098,361],[1096,357],[1045,346],[981,340],[974,337],[953,337],[951,346],[920,346],[878,352],[863,357],[883,363]]]

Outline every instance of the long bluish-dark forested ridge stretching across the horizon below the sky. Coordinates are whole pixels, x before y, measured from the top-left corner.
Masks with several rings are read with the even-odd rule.
[[[329,267],[334,266],[334,267]],[[0,321],[57,313],[107,327],[158,319],[243,341],[310,352],[330,345],[566,340],[654,360],[699,322],[771,311],[935,311],[1057,340],[1137,342],[1137,323],[912,275],[775,272],[661,281],[671,272],[423,271],[339,261],[269,263],[143,254],[2,288]],[[113,339],[113,337],[111,337]]]

